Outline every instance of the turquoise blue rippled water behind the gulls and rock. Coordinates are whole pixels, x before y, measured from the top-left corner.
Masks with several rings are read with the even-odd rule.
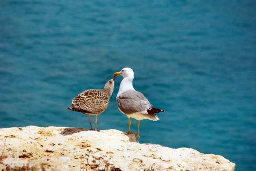
[[[223,155],[255,171],[256,2],[0,0],[0,128],[90,128],[71,99],[123,67],[161,109],[140,143]],[[99,129],[127,131],[116,86]],[[132,130],[137,122],[132,120]]]

